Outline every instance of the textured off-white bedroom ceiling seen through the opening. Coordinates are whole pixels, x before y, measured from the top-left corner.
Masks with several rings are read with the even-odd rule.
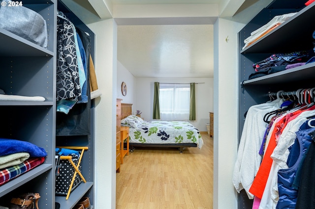
[[[135,77],[213,77],[213,25],[118,26],[118,60]]]

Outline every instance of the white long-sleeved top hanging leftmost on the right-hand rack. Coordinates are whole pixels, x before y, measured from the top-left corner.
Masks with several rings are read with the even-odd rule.
[[[264,115],[278,109],[283,102],[283,99],[277,99],[270,103],[253,105],[247,112],[232,181],[235,189],[240,192],[244,188],[250,199],[253,199],[253,195],[249,189],[260,166],[259,149],[268,126],[263,121]]]

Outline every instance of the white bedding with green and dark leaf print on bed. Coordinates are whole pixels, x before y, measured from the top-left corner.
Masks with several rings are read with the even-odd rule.
[[[129,127],[129,136],[129,143],[196,143],[199,149],[203,145],[200,132],[185,121],[143,121],[135,128]]]

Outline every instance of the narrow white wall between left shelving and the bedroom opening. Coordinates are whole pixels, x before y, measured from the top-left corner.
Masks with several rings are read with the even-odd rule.
[[[95,33],[95,73],[102,95],[95,99],[95,209],[116,208],[117,24],[88,25]]]

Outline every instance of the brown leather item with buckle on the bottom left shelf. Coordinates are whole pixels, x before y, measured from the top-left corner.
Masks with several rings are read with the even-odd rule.
[[[13,197],[9,209],[38,209],[39,193],[25,193],[19,197]]]

